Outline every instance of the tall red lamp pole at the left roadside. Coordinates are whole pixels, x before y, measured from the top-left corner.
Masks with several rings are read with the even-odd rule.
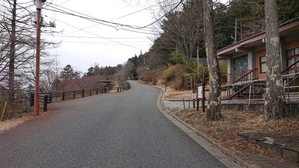
[[[35,65],[35,92],[34,92],[34,115],[38,116],[39,102],[38,102],[38,80],[39,80],[39,43],[40,43],[40,9],[37,9],[36,18],[36,65]]]

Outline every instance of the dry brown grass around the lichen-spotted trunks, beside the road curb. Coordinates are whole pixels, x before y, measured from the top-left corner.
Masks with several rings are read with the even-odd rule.
[[[299,136],[299,118],[266,122],[263,115],[257,112],[222,110],[222,119],[219,121],[206,121],[204,113],[193,109],[177,110],[172,113],[240,157],[249,154],[283,161],[280,157],[271,155],[259,146],[248,143],[237,136],[237,133],[256,132],[287,137]]]

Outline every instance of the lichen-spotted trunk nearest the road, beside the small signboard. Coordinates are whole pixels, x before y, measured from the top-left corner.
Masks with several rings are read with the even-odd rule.
[[[201,2],[204,16],[205,49],[210,74],[210,90],[206,118],[207,120],[217,120],[221,118],[221,86],[214,38],[213,3],[212,0],[201,0]]]

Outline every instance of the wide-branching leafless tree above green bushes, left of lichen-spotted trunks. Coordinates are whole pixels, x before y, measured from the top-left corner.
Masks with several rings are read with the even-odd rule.
[[[162,30],[157,31],[160,40],[171,51],[178,49],[189,67],[192,55],[203,39],[201,4],[199,0],[187,0],[185,3],[181,0],[168,0],[159,3],[161,10],[155,18],[164,16],[158,21]]]

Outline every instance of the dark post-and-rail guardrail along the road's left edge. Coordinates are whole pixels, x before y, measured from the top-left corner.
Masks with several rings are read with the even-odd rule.
[[[38,94],[38,101],[43,104],[43,111],[47,111],[47,104],[52,103],[53,98],[57,98],[56,101],[64,101],[68,99],[75,99],[85,96],[91,96],[107,93],[110,90],[117,90],[117,92],[122,92],[125,90],[129,90],[131,88],[131,84],[126,81],[121,82],[120,87],[101,87],[96,89],[82,89],[82,90],[71,90],[71,91],[60,91],[60,92],[45,92]],[[88,94],[88,95],[86,95]],[[60,99],[59,99],[60,98]],[[30,93],[30,106],[34,104],[34,93]]]

